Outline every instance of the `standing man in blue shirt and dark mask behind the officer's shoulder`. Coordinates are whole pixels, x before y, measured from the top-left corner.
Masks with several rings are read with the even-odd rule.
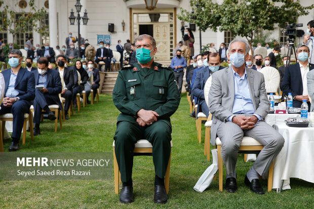
[[[178,89],[179,94],[181,94],[182,90],[182,83],[183,83],[183,74],[184,74],[184,67],[186,67],[186,61],[184,57],[181,56],[182,51],[177,50],[177,56],[172,58],[170,67],[174,71],[174,76],[176,77],[176,80],[178,81]]]

